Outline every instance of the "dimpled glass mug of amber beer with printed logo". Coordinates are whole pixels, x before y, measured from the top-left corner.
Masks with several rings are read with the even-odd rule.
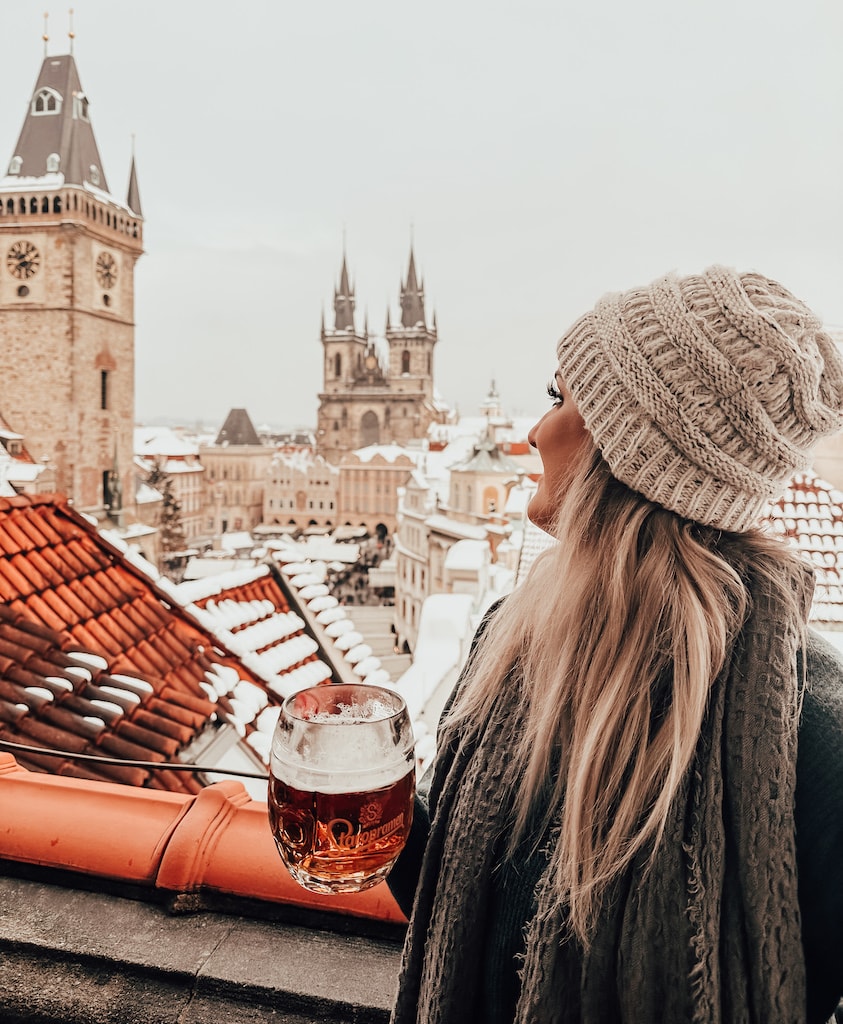
[[[360,892],[381,882],[410,834],[415,783],[413,727],[394,691],[323,683],[282,705],[269,825],[305,889]]]

